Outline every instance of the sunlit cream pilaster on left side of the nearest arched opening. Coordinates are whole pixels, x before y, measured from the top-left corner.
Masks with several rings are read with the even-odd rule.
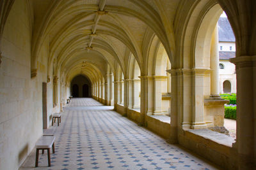
[[[193,69],[192,71],[192,104],[191,129],[206,128],[204,122],[204,76],[207,69]]]

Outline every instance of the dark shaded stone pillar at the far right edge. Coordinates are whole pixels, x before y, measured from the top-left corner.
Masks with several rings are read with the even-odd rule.
[[[256,55],[231,59],[236,64],[236,147],[239,169],[255,169],[256,162]],[[253,164],[254,162],[254,164]]]

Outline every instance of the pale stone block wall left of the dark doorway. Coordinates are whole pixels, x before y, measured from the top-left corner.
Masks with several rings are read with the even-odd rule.
[[[19,169],[42,135],[42,74],[31,79],[31,17],[29,3],[17,0],[1,39],[0,169]]]

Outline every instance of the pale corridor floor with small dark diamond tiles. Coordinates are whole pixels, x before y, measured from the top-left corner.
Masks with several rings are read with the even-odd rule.
[[[72,99],[60,127],[50,128],[56,136],[52,166],[44,153],[35,168],[34,148],[20,169],[218,169],[112,109],[90,98]]]

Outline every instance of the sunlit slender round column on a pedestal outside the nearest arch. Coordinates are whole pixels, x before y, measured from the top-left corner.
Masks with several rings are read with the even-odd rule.
[[[212,33],[211,42],[211,97],[219,97],[219,37],[218,25]]]

